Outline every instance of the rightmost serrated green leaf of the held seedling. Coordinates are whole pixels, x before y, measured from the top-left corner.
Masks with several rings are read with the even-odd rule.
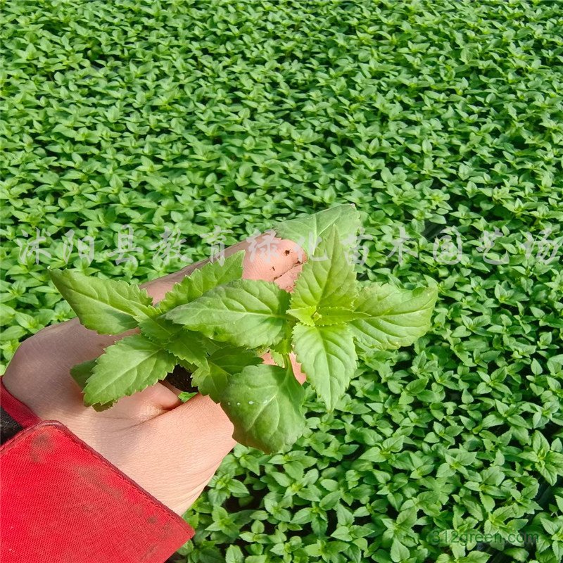
[[[368,348],[391,350],[410,346],[431,328],[436,288],[398,289],[377,284],[360,289],[355,310],[369,315],[353,320],[353,336]]]

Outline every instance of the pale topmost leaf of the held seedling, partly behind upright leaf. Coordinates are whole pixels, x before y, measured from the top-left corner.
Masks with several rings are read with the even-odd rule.
[[[310,256],[317,245],[318,239],[324,239],[333,225],[340,239],[346,240],[358,233],[360,214],[354,205],[346,203],[313,215],[305,215],[274,224],[274,229],[279,238],[298,243]]]

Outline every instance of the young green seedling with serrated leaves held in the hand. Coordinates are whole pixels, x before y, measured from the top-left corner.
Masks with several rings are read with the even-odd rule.
[[[84,404],[111,407],[180,365],[199,393],[220,403],[236,441],[265,452],[286,450],[305,426],[305,391],[293,375],[291,352],[327,410],[334,410],[355,372],[357,348],[408,346],[430,328],[435,288],[356,280],[341,241],[359,227],[350,205],[280,224],[277,234],[286,239],[321,239],[314,252],[305,248],[309,258],[293,293],[242,279],[243,251],[194,271],[158,305],[125,281],[52,271],[84,327],[100,334],[139,329],[73,367]],[[262,362],[268,350],[276,365]]]

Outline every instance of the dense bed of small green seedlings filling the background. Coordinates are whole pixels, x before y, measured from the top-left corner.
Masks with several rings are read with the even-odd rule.
[[[185,263],[153,260],[165,228],[199,260],[215,227],[229,244],[353,202],[360,277],[439,283],[434,330],[366,355],[334,414],[311,394],[291,453],[225,460],[190,562],[562,559],[560,1],[0,6],[4,367],[71,315],[45,272],[69,229],[95,246],[69,267],[144,281]],[[116,265],[124,224],[139,250]],[[454,264],[433,255],[445,226]]]

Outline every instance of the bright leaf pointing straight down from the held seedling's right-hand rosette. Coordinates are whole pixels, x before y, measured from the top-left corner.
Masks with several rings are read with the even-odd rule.
[[[356,369],[356,350],[348,327],[297,324],[293,329],[293,346],[307,381],[327,409],[334,410]]]

